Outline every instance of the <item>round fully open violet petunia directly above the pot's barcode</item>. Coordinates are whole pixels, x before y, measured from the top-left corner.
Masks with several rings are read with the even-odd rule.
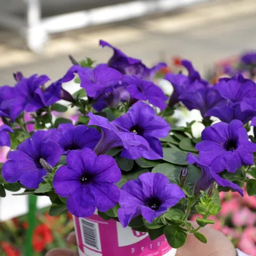
[[[54,175],[53,188],[59,196],[67,197],[67,208],[77,217],[91,216],[97,207],[106,212],[120,198],[113,184],[121,179],[121,171],[111,156],[97,156],[92,149],[72,151],[67,166]]]

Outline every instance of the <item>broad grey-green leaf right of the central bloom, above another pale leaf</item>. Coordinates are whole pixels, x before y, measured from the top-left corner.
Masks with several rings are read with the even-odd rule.
[[[177,150],[175,148],[163,148],[163,152],[163,159],[166,162],[179,165],[188,164],[188,161],[186,161],[187,154],[182,150]]]

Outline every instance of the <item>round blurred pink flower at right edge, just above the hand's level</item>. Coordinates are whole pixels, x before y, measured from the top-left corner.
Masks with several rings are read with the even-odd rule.
[[[232,223],[237,227],[253,226],[256,222],[256,214],[247,207],[243,207],[240,211],[234,211]]]

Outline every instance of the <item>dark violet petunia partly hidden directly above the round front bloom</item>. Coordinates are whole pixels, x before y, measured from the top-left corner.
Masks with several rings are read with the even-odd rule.
[[[60,124],[58,133],[58,143],[64,155],[70,150],[81,150],[85,147],[93,149],[101,138],[100,132],[86,125]]]

